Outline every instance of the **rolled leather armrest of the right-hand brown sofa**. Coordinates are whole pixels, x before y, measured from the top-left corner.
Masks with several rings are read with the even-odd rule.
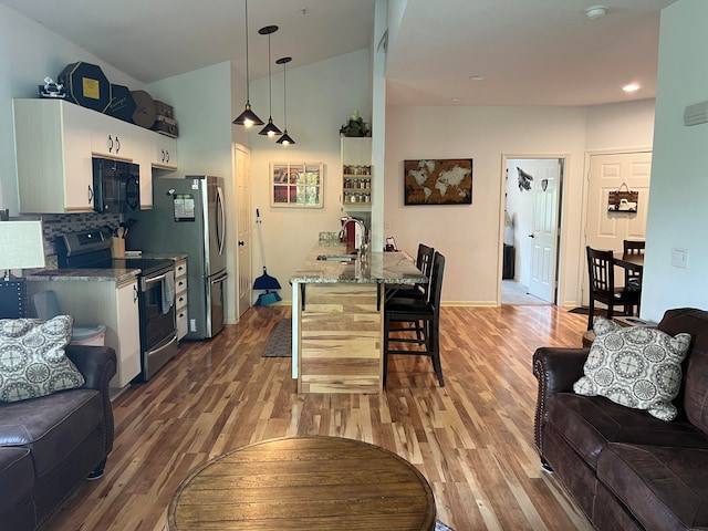
[[[535,404],[533,440],[543,459],[543,426],[548,420],[548,400],[555,393],[572,392],[573,384],[583,376],[590,348],[544,346],[533,353],[533,375],[539,381]]]

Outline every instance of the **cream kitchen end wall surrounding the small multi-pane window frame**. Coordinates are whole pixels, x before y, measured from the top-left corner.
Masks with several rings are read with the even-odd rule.
[[[296,58],[289,64],[296,65]],[[273,122],[283,127],[282,73],[273,74]],[[301,67],[289,67],[288,132],[294,145],[281,146],[253,131],[251,145],[252,208],[260,209],[268,274],[275,277],[280,295],[290,300],[288,281],[321,231],[339,231],[341,194],[340,127],[352,111],[371,122],[369,54],[348,53]],[[268,121],[268,80],[251,84],[251,103],[261,119]],[[324,163],[324,208],[270,206],[270,163]],[[254,214],[252,215],[254,218]],[[262,273],[258,238],[251,247],[253,274]],[[258,296],[259,293],[254,293]]]

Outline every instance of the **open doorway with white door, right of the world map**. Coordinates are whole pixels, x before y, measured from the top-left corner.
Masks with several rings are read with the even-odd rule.
[[[501,304],[555,304],[565,157],[504,156],[503,167]]]

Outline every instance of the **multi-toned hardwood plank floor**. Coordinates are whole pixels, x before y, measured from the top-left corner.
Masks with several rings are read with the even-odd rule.
[[[179,483],[208,459],[275,437],[364,440],[414,464],[456,531],[591,530],[533,446],[539,346],[580,346],[584,315],[555,306],[442,308],[440,388],[428,358],[393,356],[383,394],[296,393],[289,357],[262,357],[288,306],[250,309],[212,341],[187,342],[114,402],[105,476],[45,529],[163,530]],[[1,525],[0,525],[1,527]]]

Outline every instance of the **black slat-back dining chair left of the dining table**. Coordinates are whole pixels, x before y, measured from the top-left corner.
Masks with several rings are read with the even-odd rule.
[[[637,306],[639,310],[639,291],[627,290],[625,287],[615,287],[615,262],[612,251],[593,249],[587,250],[587,278],[590,279],[590,309],[587,312],[587,330],[593,327],[595,314],[595,301],[607,306],[607,319],[612,319],[614,306],[623,306],[623,310]]]

